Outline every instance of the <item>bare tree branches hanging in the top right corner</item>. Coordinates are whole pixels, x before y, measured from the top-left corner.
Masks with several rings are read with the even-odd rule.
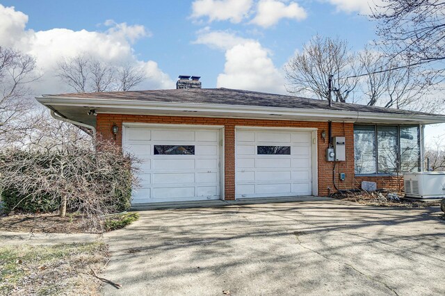
[[[371,17],[377,33],[392,56],[411,60],[445,59],[445,1],[382,0]],[[440,66],[444,69],[444,64]]]

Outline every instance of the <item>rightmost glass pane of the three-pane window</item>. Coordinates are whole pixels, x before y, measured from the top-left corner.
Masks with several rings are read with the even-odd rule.
[[[419,126],[401,126],[401,171],[419,172]]]

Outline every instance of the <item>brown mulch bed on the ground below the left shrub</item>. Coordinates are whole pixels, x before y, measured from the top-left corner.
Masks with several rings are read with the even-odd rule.
[[[1,231],[34,233],[85,233],[82,215],[57,213],[14,214],[0,217]]]

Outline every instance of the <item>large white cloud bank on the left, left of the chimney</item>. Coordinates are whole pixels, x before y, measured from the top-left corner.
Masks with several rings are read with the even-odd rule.
[[[14,47],[25,54],[35,56],[42,79],[35,83],[35,94],[66,92],[65,85],[54,74],[58,60],[86,54],[112,65],[135,65],[142,68],[149,79],[143,85],[147,88],[174,88],[174,82],[159,69],[152,60],[138,60],[133,54],[131,42],[149,35],[139,25],[115,24],[104,32],[72,31],[54,28],[48,31],[26,29],[28,16],[0,4],[0,46]]]

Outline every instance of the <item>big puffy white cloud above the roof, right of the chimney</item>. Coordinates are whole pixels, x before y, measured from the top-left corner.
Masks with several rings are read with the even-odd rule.
[[[284,78],[273,65],[269,52],[256,41],[235,45],[225,53],[224,73],[218,75],[218,88],[237,88],[284,93]]]

